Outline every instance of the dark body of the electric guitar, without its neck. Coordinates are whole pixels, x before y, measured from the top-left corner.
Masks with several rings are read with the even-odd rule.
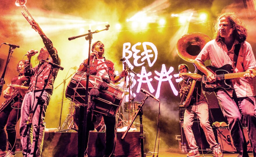
[[[226,64],[220,68],[214,66],[207,66],[207,69],[210,70],[213,74],[216,74],[216,81],[213,83],[209,83],[207,77],[202,76],[202,89],[205,92],[214,92],[216,88],[222,88],[225,90],[231,89],[233,87],[230,79],[223,79],[222,77],[225,74],[232,73],[232,66],[230,64]]]

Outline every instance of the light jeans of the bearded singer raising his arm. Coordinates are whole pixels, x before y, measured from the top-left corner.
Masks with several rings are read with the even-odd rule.
[[[41,94],[41,91],[36,91],[36,92],[33,91],[33,92],[26,93],[26,95],[24,96],[24,100],[22,102],[21,118],[20,118],[20,126],[19,126],[20,140],[22,144],[22,154],[23,156],[27,156],[27,157],[33,156],[33,152],[35,148],[35,141],[33,140],[35,140],[36,127],[38,126],[40,105],[37,106],[35,110],[35,114],[33,115],[31,129],[25,133],[26,135],[25,137],[23,137],[23,134],[26,129],[26,122],[29,118],[29,113],[31,109],[34,110],[36,103],[38,101],[38,99],[35,98],[35,96],[39,96],[40,94]],[[42,153],[42,145],[43,145],[43,139],[44,139],[44,133],[45,133],[45,124],[44,124],[45,112],[49,104],[51,94],[44,91],[42,94],[42,98],[45,100],[45,103],[43,104],[44,106],[43,106],[42,116],[40,120],[40,132],[39,132],[39,139],[38,139],[38,145],[37,145],[37,151],[36,151],[37,157],[41,156],[41,153]]]

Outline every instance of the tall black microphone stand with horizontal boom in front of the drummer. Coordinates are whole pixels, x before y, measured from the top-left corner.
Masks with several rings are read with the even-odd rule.
[[[80,118],[78,123],[78,137],[77,137],[77,143],[80,148],[78,149],[77,157],[84,157],[85,153],[85,146],[86,146],[86,119],[87,119],[87,107],[88,107],[88,86],[89,86],[89,76],[90,76],[90,47],[91,42],[93,39],[93,34],[98,33],[104,30],[109,30],[109,25],[106,25],[106,28],[103,30],[96,30],[94,32],[91,32],[91,30],[88,30],[89,33],[79,35],[79,36],[73,36],[68,38],[68,40],[73,40],[82,36],[86,36],[85,39],[89,40],[89,50],[88,50],[88,62],[86,67],[86,93],[85,93],[85,103],[84,105],[80,106]],[[88,139],[87,139],[88,140]]]

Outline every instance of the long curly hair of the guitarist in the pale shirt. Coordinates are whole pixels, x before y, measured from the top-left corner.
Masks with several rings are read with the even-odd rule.
[[[243,21],[239,19],[239,17],[234,13],[234,12],[226,12],[224,14],[221,14],[218,16],[217,21],[214,25],[214,37],[217,42],[224,41],[224,38],[220,36],[220,33],[218,31],[218,22],[221,18],[225,17],[232,28],[234,28],[233,31],[233,36],[234,39],[237,39],[239,42],[244,42],[246,41],[246,36],[247,36],[247,29]]]

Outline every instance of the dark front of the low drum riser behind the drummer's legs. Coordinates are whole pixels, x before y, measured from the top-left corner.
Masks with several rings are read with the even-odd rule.
[[[124,141],[123,133],[116,135],[116,157],[140,157],[140,132],[128,132]],[[90,132],[88,156],[102,157],[105,150],[105,132]],[[77,157],[77,132],[46,132],[42,157]]]

